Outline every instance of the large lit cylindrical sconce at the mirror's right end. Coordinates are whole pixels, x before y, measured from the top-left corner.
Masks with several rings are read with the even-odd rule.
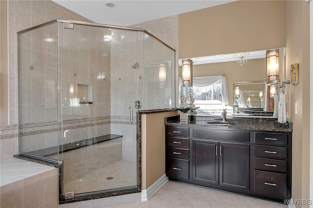
[[[279,83],[279,49],[266,51],[266,83]]]

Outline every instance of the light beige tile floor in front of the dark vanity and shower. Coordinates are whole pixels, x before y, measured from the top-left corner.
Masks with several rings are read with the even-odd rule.
[[[60,205],[59,208],[288,208],[276,202],[172,181],[147,202],[140,201],[140,193],[131,194],[133,198],[126,196]]]

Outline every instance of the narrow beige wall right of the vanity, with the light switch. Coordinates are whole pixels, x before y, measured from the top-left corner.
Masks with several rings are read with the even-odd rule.
[[[288,115],[293,122],[292,198],[310,199],[310,22],[309,2],[288,1],[286,6],[286,75],[299,63],[299,84],[287,85]],[[312,75],[311,75],[312,76]],[[294,104],[298,103],[298,114]],[[297,206],[300,207],[300,206]],[[302,206],[306,207],[306,206]],[[308,207],[308,206],[307,206]]]

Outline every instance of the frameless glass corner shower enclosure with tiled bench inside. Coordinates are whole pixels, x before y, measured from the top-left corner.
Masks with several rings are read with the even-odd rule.
[[[49,21],[18,32],[18,89],[19,154],[62,164],[60,200],[140,191],[136,112],[175,106],[175,50],[143,29]]]

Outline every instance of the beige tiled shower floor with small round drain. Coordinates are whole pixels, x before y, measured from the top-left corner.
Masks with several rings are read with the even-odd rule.
[[[85,193],[136,186],[136,162],[120,160],[64,185],[65,192]],[[108,177],[113,179],[108,180]]]

